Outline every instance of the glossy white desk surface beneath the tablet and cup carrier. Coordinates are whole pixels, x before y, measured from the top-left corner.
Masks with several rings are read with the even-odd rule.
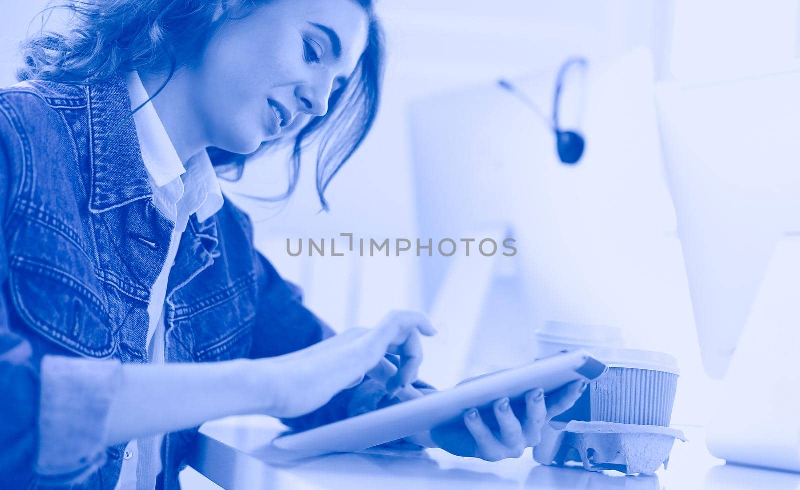
[[[348,488],[422,490],[436,488],[591,488],[659,490],[706,488],[800,488],[800,474],[726,465],[706,449],[702,428],[678,427],[689,440],[676,441],[670,468],[654,476],[592,473],[582,468],[550,468],[534,462],[530,449],[518,460],[490,463],[424,452],[376,451],[321,456],[292,466],[275,466],[260,456],[281,432],[268,417],[235,417],[203,426],[191,466],[228,490],[242,488]]]

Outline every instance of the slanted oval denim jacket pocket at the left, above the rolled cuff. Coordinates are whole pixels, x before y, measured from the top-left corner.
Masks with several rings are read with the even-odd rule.
[[[74,274],[40,258],[15,255],[9,284],[18,314],[38,334],[79,355],[114,354],[110,315],[98,295]]]

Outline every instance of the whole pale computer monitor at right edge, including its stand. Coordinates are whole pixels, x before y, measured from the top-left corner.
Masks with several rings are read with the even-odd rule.
[[[658,90],[703,364],[706,443],[800,471],[800,70]]]

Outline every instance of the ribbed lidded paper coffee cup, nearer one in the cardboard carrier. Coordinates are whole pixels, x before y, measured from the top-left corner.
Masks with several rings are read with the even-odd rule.
[[[598,349],[609,367],[591,384],[591,420],[670,427],[678,362],[671,355],[631,349]]]

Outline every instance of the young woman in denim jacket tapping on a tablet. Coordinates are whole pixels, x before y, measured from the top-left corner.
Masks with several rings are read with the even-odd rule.
[[[371,0],[66,11],[66,27],[24,46],[22,82],[0,90],[2,480],[177,488],[206,420],[262,413],[303,430],[398,403],[430,324],[395,312],[333,335],[254,249],[214,172],[289,142],[290,195],[317,139],[326,207],[378,108]],[[583,388],[498,400],[486,421],[470,410],[412,440],[518,457]]]

